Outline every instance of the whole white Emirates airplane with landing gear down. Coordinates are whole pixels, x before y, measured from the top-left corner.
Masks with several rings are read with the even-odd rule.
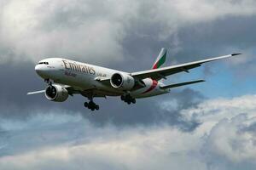
[[[190,69],[201,66],[217,59],[230,58],[239,54],[229,54],[211,59],[189,62],[182,65],[172,65],[160,68],[166,61],[166,48],[162,48],[148,71],[124,72],[116,71],[96,65],[89,65],[70,59],[49,58],[39,61],[35,66],[38,75],[48,83],[45,90],[29,94],[44,93],[51,101],[63,102],[68,96],[81,94],[89,99],[84,106],[91,111],[99,110],[99,105],[94,103],[96,97],[120,96],[127,104],[135,104],[136,99],[168,94],[171,88],[205,82],[197,80],[165,85],[162,79],[178,72],[189,72]]]

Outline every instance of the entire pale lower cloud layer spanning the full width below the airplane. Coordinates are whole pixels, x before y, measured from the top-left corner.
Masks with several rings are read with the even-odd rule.
[[[1,144],[6,154],[0,169],[255,169],[255,100],[211,99],[182,111],[202,122],[192,133],[165,124],[96,127],[78,114],[55,111],[15,128],[1,123],[10,138],[0,136],[7,142]]]

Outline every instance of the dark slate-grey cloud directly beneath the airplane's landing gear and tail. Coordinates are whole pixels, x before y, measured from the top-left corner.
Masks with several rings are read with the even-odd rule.
[[[108,120],[119,126],[154,125],[164,122],[184,131],[193,131],[200,123],[195,120],[184,120],[179,111],[195,106],[203,99],[205,98],[200,93],[185,88],[155,99],[138,99],[137,105],[125,105],[123,102],[113,99],[110,103],[102,105],[102,111],[99,114],[84,116],[92,122],[104,123]],[[172,108],[172,111],[163,110],[161,103],[165,101],[175,102],[178,106]]]

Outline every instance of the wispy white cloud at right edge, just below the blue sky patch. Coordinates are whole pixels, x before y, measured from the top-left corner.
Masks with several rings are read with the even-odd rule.
[[[186,119],[196,119],[199,122],[212,122],[216,124],[224,118],[232,118],[246,113],[247,116],[255,116],[256,95],[245,95],[233,99],[211,99],[181,111]]]

